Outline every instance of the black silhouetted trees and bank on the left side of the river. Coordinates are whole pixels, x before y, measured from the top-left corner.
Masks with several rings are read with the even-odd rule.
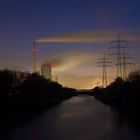
[[[13,126],[76,95],[37,73],[0,71],[0,128]]]

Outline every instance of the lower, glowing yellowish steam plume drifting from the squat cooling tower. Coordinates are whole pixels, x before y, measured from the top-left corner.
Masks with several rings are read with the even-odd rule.
[[[99,54],[83,52],[69,52],[47,58],[43,63],[51,64],[55,71],[74,69],[97,59]]]

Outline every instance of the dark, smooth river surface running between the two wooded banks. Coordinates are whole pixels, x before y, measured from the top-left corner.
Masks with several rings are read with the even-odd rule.
[[[64,101],[0,140],[140,140],[126,117],[90,96]]]

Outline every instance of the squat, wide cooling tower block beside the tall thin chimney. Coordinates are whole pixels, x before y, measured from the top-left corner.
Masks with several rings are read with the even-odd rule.
[[[42,64],[41,65],[41,75],[46,79],[52,80],[52,66],[51,64]]]

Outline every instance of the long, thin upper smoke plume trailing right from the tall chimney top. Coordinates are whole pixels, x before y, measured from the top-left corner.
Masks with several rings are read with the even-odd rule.
[[[119,30],[120,31],[120,30]],[[82,42],[106,42],[116,40],[118,35],[117,30],[95,30],[95,31],[80,31],[72,33],[64,33],[49,37],[38,38],[35,41],[40,43],[57,42],[57,43],[82,43]],[[140,41],[140,35],[123,36],[129,41]],[[122,38],[122,39],[123,39]]]

